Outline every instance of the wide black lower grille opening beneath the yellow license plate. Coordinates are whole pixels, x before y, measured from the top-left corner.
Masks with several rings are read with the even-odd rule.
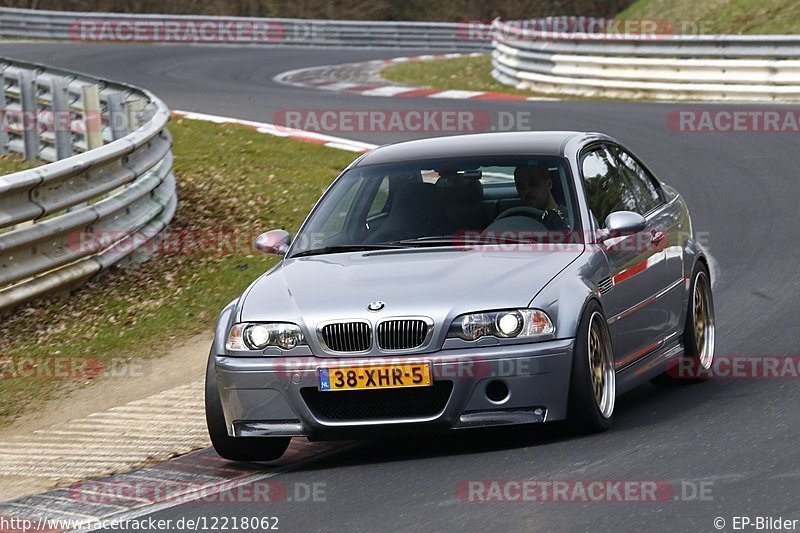
[[[321,419],[391,420],[435,416],[444,410],[452,390],[452,381],[435,381],[430,387],[404,389],[321,392],[307,387],[300,394]]]

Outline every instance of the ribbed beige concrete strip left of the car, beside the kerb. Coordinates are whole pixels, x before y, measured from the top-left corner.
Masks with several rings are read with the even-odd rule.
[[[0,499],[38,478],[47,486],[130,470],[210,445],[203,382],[0,441]]]

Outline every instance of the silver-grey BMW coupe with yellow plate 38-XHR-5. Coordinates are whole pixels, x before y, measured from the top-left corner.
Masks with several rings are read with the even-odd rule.
[[[220,314],[206,415],[227,459],[291,437],[567,420],[714,357],[707,259],[681,196],[614,139],[440,137],[354,161]]]

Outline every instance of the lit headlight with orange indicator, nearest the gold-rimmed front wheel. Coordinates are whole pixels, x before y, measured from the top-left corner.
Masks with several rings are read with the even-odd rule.
[[[474,341],[487,335],[495,337],[538,337],[555,331],[547,313],[539,309],[509,309],[461,315],[450,326],[448,337]]]

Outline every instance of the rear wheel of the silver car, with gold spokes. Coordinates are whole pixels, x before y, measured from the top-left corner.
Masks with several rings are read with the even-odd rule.
[[[698,318],[698,314],[700,315]],[[700,261],[692,272],[689,286],[689,304],[683,326],[684,361],[656,376],[655,385],[692,384],[706,381],[714,365],[716,322],[714,298],[711,294],[711,277],[708,268]],[[685,361],[688,359],[688,361]],[[684,372],[688,368],[689,372]],[[688,375],[686,375],[688,374]]]

